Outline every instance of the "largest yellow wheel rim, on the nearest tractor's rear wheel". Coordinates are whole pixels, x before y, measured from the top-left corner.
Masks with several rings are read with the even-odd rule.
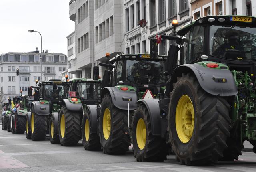
[[[187,143],[192,137],[195,123],[193,103],[187,95],[182,95],[176,107],[176,131],[182,143]]]

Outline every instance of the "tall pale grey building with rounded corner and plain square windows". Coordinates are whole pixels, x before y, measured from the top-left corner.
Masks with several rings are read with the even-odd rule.
[[[70,73],[80,69],[81,77],[91,78],[92,67],[107,61],[106,52],[114,57],[123,51],[123,1],[71,0],[69,7],[70,20],[76,25],[76,58],[70,60]]]

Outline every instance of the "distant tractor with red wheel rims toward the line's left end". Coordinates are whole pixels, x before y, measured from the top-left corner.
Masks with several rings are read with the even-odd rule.
[[[29,95],[14,97],[14,108],[11,117],[11,132],[15,134],[24,134],[26,130],[26,114],[31,111],[31,103],[34,101],[32,88],[28,88]]]

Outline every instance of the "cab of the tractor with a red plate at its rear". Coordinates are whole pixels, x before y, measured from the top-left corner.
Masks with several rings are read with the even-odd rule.
[[[68,82],[70,83],[68,97],[80,99],[86,105],[95,105],[100,97],[101,82],[102,79],[72,78]]]

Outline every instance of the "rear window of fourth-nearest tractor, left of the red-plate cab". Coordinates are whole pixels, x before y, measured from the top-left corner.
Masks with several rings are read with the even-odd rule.
[[[44,98],[46,99],[65,99],[67,97],[68,85],[45,85]]]

